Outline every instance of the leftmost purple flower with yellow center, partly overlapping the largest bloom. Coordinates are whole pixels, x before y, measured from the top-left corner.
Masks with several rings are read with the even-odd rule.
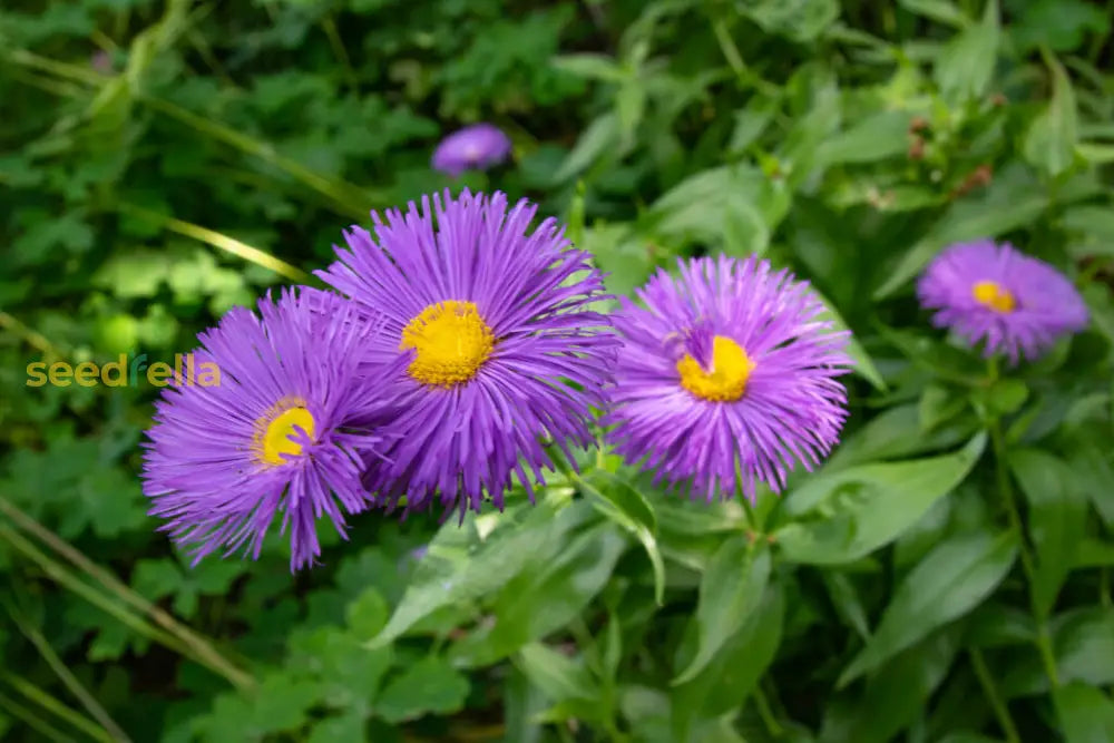
[[[234,307],[201,333],[194,365],[216,384],[178,383],[155,403],[144,443],[144,493],[160,527],[194,548],[194,564],[226,548],[257,558],[277,512],[290,528],[291,570],[321,554],[316,519],[344,535],[344,514],[373,504],[362,465],[387,448],[378,423],[393,417],[382,378],[358,349],[375,332],[352,303],[329,292],[285,290]]]

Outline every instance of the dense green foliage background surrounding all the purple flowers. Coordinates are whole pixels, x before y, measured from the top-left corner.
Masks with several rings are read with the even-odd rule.
[[[4,0],[0,737],[1114,740],[1108,9]],[[477,119],[514,163],[430,170]],[[25,385],[169,360],[465,184],[567,219],[616,292],[717,251],[811,280],[859,344],[836,456],[747,511],[586,454],[460,528],[323,529],[310,573],[277,537],[189,569],[137,478],[155,390]],[[912,278],[983,236],[1092,329],[1000,375],[932,331]]]

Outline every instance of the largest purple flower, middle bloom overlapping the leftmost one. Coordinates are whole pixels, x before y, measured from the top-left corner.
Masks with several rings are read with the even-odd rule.
[[[593,443],[592,408],[603,403],[618,340],[589,309],[604,299],[603,275],[548,218],[532,233],[526,199],[467,189],[458,199],[422,197],[403,215],[372,214],[374,235],[345,233],[349,250],[319,272],[326,283],[384,316],[369,359],[407,359],[393,421],[392,465],[368,482],[407,490],[407,510],[440,493],[444,508],[479,510],[485,493],[502,508],[512,473],[534,493],[553,469],[544,439],[569,457],[568,442]],[[392,488],[392,483],[394,487]]]

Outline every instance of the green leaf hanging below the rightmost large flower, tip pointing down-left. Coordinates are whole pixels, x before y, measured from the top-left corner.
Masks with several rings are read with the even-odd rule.
[[[759,604],[770,578],[770,550],[745,535],[730,537],[701,578],[696,602],[696,654],[673,685],[691,681],[723,647]]]

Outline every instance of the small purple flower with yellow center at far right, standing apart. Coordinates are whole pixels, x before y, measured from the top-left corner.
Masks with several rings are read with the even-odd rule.
[[[1075,286],[1044,261],[991,239],[946,248],[917,285],[921,306],[937,310],[932,324],[950,327],[984,355],[1019,353],[1036,359],[1066,334],[1087,326],[1088,313]]]

